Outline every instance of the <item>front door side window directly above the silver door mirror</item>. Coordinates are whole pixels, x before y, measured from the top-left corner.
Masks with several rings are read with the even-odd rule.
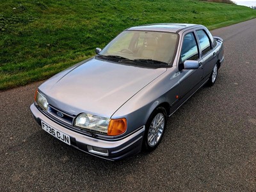
[[[197,60],[199,58],[198,47],[193,33],[188,33],[184,36],[180,57],[182,63],[186,60]]]

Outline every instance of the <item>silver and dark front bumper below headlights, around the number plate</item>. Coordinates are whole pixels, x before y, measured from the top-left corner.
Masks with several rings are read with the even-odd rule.
[[[41,125],[41,121],[44,121],[53,128],[69,135],[71,146],[87,152],[88,154],[109,160],[119,160],[126,158],[127,156],[137,154],[141,151],[145,126],[142,126],[131,135],[119,138],[118,140],[102,140],[99,138],[88,137],[71,129],[65,128],[65,126],[60,124],[60,122],[53,121],[42,114],[42,112],[36,108],[34,103],[30,106],[30,110],[38,124]],[[93,150],[95,147],[96,149],[97,147],[107,149],[108,153],[100,154],[100,152]]]

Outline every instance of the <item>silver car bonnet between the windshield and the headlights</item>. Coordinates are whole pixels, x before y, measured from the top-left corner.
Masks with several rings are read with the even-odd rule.
[[[40,85],[50,105],[77,115],[111,117],[118,108],[166,68],[141,68],[90,59]]]

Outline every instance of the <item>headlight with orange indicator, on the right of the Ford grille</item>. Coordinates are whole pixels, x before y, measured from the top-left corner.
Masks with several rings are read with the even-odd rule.
[[[75,126],[88,129],[104,135],[120,135],[127,129],[125,118],[109,119],[90,114],[80,114],[76,118]]]

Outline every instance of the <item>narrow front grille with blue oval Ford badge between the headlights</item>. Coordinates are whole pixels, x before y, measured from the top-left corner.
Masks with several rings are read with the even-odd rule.
[[[71,126],[73,126],[75,115],[68,114],[67,112],[63,112],[59,110],[58,108],[52,107],[51,105],[48,105],[47,112],[54,116],[56,119],[59,119],[60,121],[63,121]]]

